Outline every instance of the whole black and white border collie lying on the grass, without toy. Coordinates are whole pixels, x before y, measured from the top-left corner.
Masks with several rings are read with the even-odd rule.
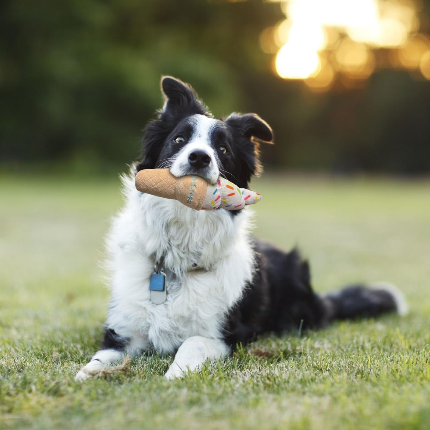
[[[405,313],[401,294],[388,284],[313,292],[309,266],[296,250],[283,252],[250,235],[252,209],[194,211],[136,190],[136,173],[154,168],[211,183],[221,175],[247,188],[261,172],[259,142],[273,140],[256,114],[217,120],[189,85],[163,77],[161,86],[164,106],[145,129],[142,161],[123,177],[126,203],[107,238],[111,300],[104,340],[78,381],[148,349],[175,353],[165,377],[176,378],[256,335]],[[150,279],[161,268],[166,298],[156,304]]]

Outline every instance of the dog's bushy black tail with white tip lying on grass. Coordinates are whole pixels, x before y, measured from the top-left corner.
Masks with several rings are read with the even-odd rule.
[[[321,298],[326,322],[369,318],[390,312],[405,315],[408,312],[402,292],[385,282],[351,285]]]

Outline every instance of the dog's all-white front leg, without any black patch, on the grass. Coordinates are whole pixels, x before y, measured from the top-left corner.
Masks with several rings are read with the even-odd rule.
[[[164,377],[167,379],[181,378],[188,370],[199,369],[207,359],[221,359],[229,353],[230,348],[220,339],[192,336],[179,347],[175,359]]]

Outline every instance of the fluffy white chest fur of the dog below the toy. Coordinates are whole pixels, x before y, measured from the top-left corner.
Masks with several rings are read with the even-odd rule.
[[[194,211],[175,200],[141,194],[124,178],[126,205],[107,240],[112,297],[107,326],[174,352],[190,336],[222,337],[227,311],[252,279],[249,210]],[[167,300],[153,304],[149,279],[164,258]],[[202,270],[190,270],[193,264]]]

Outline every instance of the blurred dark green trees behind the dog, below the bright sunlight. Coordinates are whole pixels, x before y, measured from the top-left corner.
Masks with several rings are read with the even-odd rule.
[[[429,33],[430,1],[414,4]],[[380,67],[358,86],[315,93],[282,79],[261,48],[264,29],[286,18],[281,6],[3,0],[0,168],[123,170],[139,156],[169,74],[191,83],[217,117],[253,111],[267,120],[276,142],[264,147],[268,168],[428,173],[430,81]]]

